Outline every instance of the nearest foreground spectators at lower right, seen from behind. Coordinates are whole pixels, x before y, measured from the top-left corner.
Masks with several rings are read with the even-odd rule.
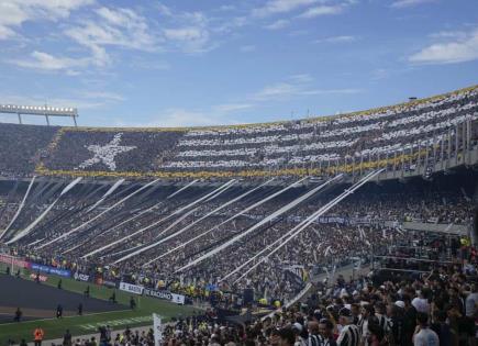
[[[475,263],[476,265],[476,263]],[[165,345],[476,345],[478,283],[459,266],[374,284],[338,277],[263,319],[240,325],[218,316],[191,317],[165,331]]]

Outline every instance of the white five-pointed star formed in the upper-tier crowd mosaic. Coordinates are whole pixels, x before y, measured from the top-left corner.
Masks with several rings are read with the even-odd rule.
[[[85,169],[92,165],[103,163],[104,165],[108,166],[108,168],[110,168],[110,170],[116,170],[116,163],[114,161],[116,155],[137,148],[136,146],[119,145],[122,135],[123,135],[122,133],[115,134],[113,139],[111,139],[110,143],[103,146],[97,144],[85,146],[88,150],[95,153],[95,156],[92,158],[87,159],[78,167]]]

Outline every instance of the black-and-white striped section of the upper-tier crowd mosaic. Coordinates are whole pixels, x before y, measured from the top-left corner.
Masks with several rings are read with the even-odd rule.
[[[455,147],[463,124],[478,116],[477,99],[477,90],[468,90],[418,104],[330,120],[190,131],[179,141],[178,154],[165,167],[241,170],[358,166],[429,148],[433,152],[436,146],[447,147],[448,142]],[[475,135],[470,134],[474,143]],[[443,159],[447,153],[440,155]],[[413,157],[411,166],[416,161]]]

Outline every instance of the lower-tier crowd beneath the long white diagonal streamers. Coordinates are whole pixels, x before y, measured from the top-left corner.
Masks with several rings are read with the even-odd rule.
[[[465,175],[473,177],[471,171]],[[232,186],[219,193],[216,187],[191,187],[173,194],[178,190],[153,186],[127,199],[141,187],[131,185],[91,210],[108,186],[85,186],[57,201],[45,219],[14,245],[16,254],[35,263],[90,274],[91,277],[100,275],[111,281],[127,276],[133,283],[169,289],[194,299],[208,299],[216,290],[238,292],[254,288],[260,294],[287,301],[304,287],[312,272],[323,271],[324,265],[329,268],[337,265],[334,258],[338,254],[347,254],[341,257],[345,261],[367,258],[374,248],[394,244],[403,237],[401,225],[405,221],[448,227],[469,225],[476,180],[468,179],[467,185],[455,178],[445,176],[443,181],[438,179],[427,185],[423,181],[389,182],[386,187],[370,185],[316,220],[244,278],[241,274],[245,269],[222,280],[335,197],[336,190],[305,200],[289,212],[273,217],[226,250],[181,276],[175,272],[191,259],[255,227],[311,187],[282,193],[278,192],[284,187],[263,187],[244,196],[253,188]],[[56,185],[48,188],[40,183],[33,189],[33,196],[43,196],[43,199],[25,207],[7,239],[15,230],[26,227],[43,214],[57,196],[52,193],[49,200],[44,199],[46,192],[60,190]],[[446,185],[447,189],[444,188]],[[337,189],[342,191],[342,188]],[[45,192],[38,193],[37,190]],[[4,191],[7,193],[8,189]],[[275,193],[278,193],[276,198],[267,200]],[[12,196],[4,200],[9,198]],[[20,199],[21,194],[16,200]],[[264,200],[267,201],[260,202]],[[251,205],[257,207],[248,210]],[[10,209],[10,214],[13,211]],[[9,219],[0,220],[4,220],[1,228]]]

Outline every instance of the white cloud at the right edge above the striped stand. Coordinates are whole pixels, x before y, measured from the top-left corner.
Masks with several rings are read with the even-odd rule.
[[[411,63],[454,64],[478,59],[478,29],[455,34],[455,40],[435,43],[410,56]]]

